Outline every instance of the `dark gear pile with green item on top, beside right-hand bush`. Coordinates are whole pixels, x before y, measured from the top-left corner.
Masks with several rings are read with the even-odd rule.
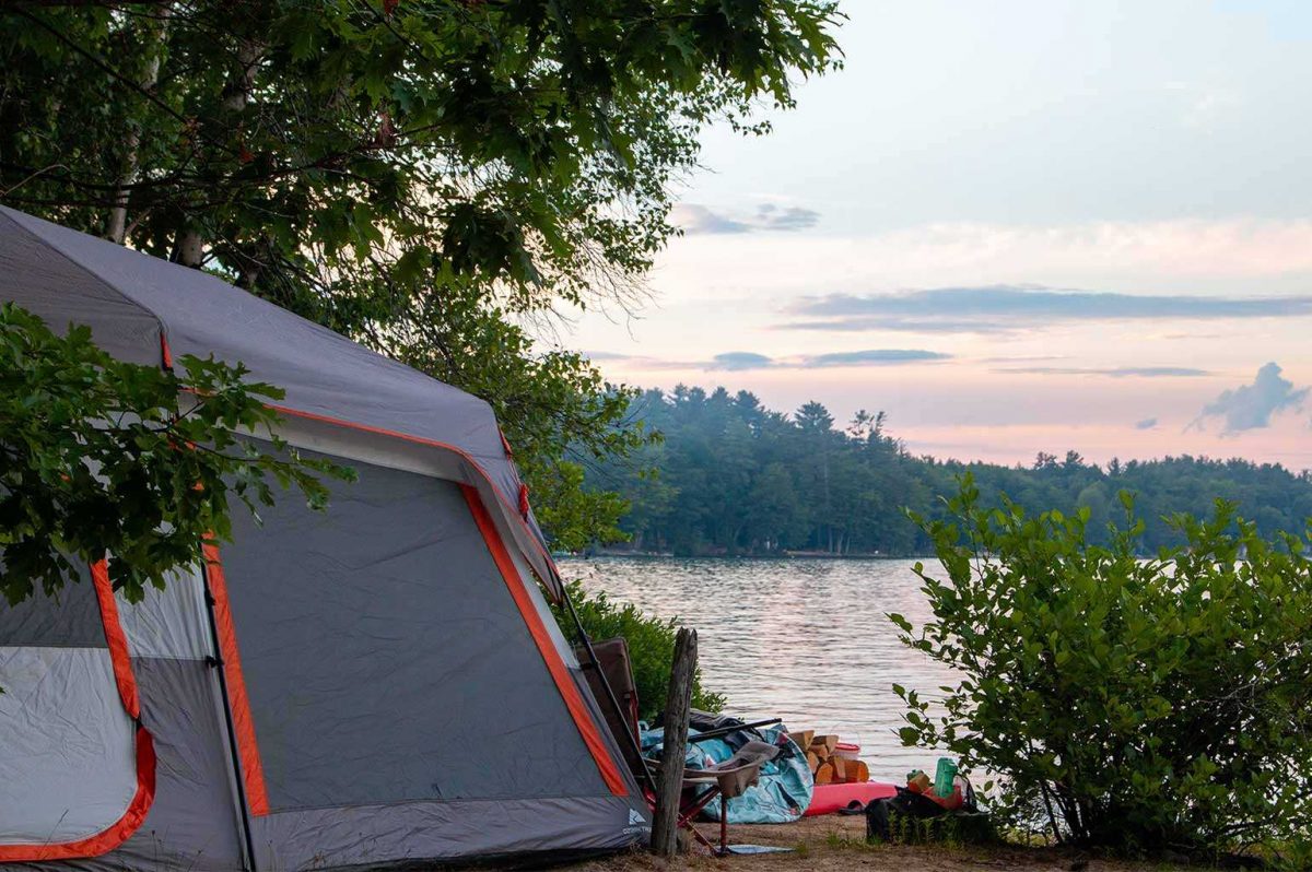
[[[921,770],[907,775],[896,796],[866,806],[866,841],[918,844],[987,842],[992,820],[981,812],[970,780],[951,758],[939,758],[935,778]]]

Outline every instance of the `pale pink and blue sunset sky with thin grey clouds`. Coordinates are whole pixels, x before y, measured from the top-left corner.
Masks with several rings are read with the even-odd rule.
[[[1312,468],[1312,3],[849,0],[842,71],[710,130],[615,382],[914,454]]]

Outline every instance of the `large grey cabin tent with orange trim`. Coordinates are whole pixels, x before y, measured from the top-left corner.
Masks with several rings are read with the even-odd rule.
[[[491,408],[220,279],[0,208],[0,300],[123,361],[243,362],[353,467],[133,604],[0,601],[0,869],[321,869],[649,833]],[[252,434],[251,438],[257,438]],[[112,559],[112,557],[110,557]],[[0,565],[3,570],[3,565]]]

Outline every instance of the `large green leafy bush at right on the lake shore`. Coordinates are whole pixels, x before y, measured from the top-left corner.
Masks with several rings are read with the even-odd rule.
[[[1001,776],[1002,809],[1057,841],[1194,852],[1299,844],[1312,804],[1312,563],[1218,501],[1170,522],[1187,544],[1144,559],[1120,494],[1110,544],[1088,510],[979,505],[916,518],[946,573],[916,572],[934,619],[905,644],[962,673],[942,711],[916,691],[907,745]]]

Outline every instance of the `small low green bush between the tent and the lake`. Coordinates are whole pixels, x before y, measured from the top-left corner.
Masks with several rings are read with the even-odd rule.
[[[588,637],[593,640],[623,636],[628,641],[628,657],[634,666],[634,683],[638,686],[639,717],[652,721],[665,708],[665,695],[669,690],[670,665],[674,661],[674,636],[678,632],[678,619],[661,620],[644,615],[632,603],[615,603],[605,593],[588,595],[577,581],[569,582],[569,599],[579,612]],[[556,622],[572,644],[580,644],[573,619],[565,608],[558,607]],[[724,707],[724,696],[702,687],[702,670],[693,677],[693,708],[718,712]]]

